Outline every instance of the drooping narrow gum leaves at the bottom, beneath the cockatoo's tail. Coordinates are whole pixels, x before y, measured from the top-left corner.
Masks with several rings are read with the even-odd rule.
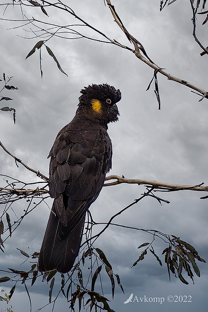
[[[39,255],[38,252],[35,252],[35,253],[29,255],[26,252],[20,250],[19,248],[17,248],[17,249],[19,250],[19,252],[23,256],[25,256],[27,258],[25,261],[27,261],[28,259],[33,260],[33,259],[38,258],[38,255]],[[84,282],[83,273],[82,273],[82,270],[80,268],[80,262],[82,262],[84,265],[85,259],[87,257],[89,257],[91,260],[92,260],[92,257],[94,257],[95,261],[94,261],[94,265],[91,268],[91,272],[90,272],[90,275],[87,279],[87,282]],[[95,264],[97,264],[97,268],[95,269],[95,272],[94,272]],[[121,282],[120,282],[119,275],[113,273],[112,266],[109,263],[109,261],[107,260],[106,255],[103,253],[103,251],[101,251],[99,248],[96,248],[96,249],[90,248],[86,252],[83,253],[81,260],[75,265],[72,272],[67,273],[67,276],[60,273],[61,286],[60,286],[60,290],[59,290],[57,296],[59,295],[60,292],[62,292],[62,294],[67,299],[67,302],[70,303],[69,308],[71,308],[73,311],[75,311],[74,307],[75,307],[76,300],[77,300],[78,305],[79,305],[79,311],[81,310],[82,306],[84,306],[84,307],[89,306],[90,311],[92,311],[93,308],[95,308],[95,311],[97,311],[97,308],[101,308],[102,310],[106,310],[108,312],[113,312],[113,310],[110,308],[110,306],[108,304],[109,300],[103,294],[95,291],[95,286],[96,286],[95,284],[97,282],[97,277],[98,276],[100,277],[100,272],[101,272],[101,269],[103,266],[105,266],[105,269],[106,269],[105,271],[111,280],[112,296],[114,295],[114,286],[115,286],[113,275],[116,277],[117,283],[120,286],[122,292],[124,292],[123,287],[122,287]],[[25,287],[25,291],[28,294],[28,298],[29,298],[30,305],[32,308],[31,298],[30,298],[30,294],[28,292],[28,288],[26,286],[26,282],[28,283],[29,281],[31,281],[31,287],[32,287],[34,285],[34,283],[36,282],[37,278],[39,277],[42,279],[42,282],[46,281],[47,284],[49,284],[49,282],[50,282],[50,284],[49,284],[49,304],[50,303],[55,304],[57,296],[53,300],[53,290],[54,290],[57,270],[48,271],[48,272],[45,272],[44,274],[38,273],[37,262],[32,264],[31,269],[29,271],[19,271],[19,270],[11,269],[11,268],[8,268],[8,270],[9,271],[7,271],[7,273],[13,274],[13,276],[12,277],[9,277],[9,276],[1,277],[0,283],[4,283],[4,282],[8,282],[8,281],[10,281],[10,282],[14,281],[15,285],[10,290],[9,295],[6,296],[5,298],[0,297],[0,300],[6,300],[6,302],[8,304],[13,293],[15,292],[17,283],[20,282]],[[90,280],[91,280],[91,283],[90,283]],[[100,282],[101,282],[101,279],[100,279]],[[76,290],[73,291],[73,289],[76,289]],[[71,292],[71,296],[70,296],[70,292]],[[84,296],[86,297],[86,295],[88,295],[89,298],[86,299],[86,302],[84,303]]]

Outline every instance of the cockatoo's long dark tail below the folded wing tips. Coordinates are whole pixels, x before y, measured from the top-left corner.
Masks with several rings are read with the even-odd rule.
[[[85,215],[68,235],[60,238],[61,222],[57,215],[51,212],[38,259],[38,271],[57,270],[60,273],[69,272],[79,253],[82,240]]]

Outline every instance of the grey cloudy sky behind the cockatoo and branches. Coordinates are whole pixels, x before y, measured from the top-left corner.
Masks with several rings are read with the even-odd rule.
[[[208,56],[200,57],[201,49],[192,37],[192,12],[189,0],[176,1],[159,11],[159,0],[124,1],[114,0],[113,4],[127,30],[145,47],[150,58],[168,73],[185,79],[207,90]],[[113,17],[102,0],[70,1],[70,5],[81,18],[112,39],[116,39],[131,48],[132,45],[113,22]],[[0,7],[2,17],[3,7]],[[24,9],[29,18],[50,21],[59,24],[71,24],[77,21],[69,14],[47,9],[49,18],[39,8]],[[19,7],[9,7],[5,19],[21,19]],[[207,46],[207,24],[201,26],[205,16],[198,16],[197,35]],[[111,44],[87,39],[64,40],[53,38],[47,45],[56,55],[68,78],[58,69],[54,60],[42,49],[43,79],[40,78],[38,52],[25,60],[28,52],[39,39],[30,37],[30,26],[7,30],[20,23],[0,21],[0,59],[1,73],[14,76],[11,84],[19,90],[3,90],[1,96],[14,98],[13,101],[0,102],[0,106],[15,107],[16,125],[12,113],[0,111],[0,140],[15,156],[29,167],[48,175],[48,153],[58,131],[74,117],[79,91],[92,83],[108,83],[119,88],[122,100],[118,103],[119,122],[109,125],[109,135],[113,142],[113,169],[111,174],[127,178],[157,180],[167,183],[196,185],[204,182],[208,185],[208,101],[198,102],[199,97],[190,89],[158,76],[161,110],[154,95],[154,86],[145,91],[152,78],[153,71],[139,61],[132,52]],[[32,28],[35,30],[35,28]],[[83,29],[83,28],[82,28]],[[88,29],[86,34],[102,39]],[[1,78],[2,79],[2,78]],[[3,81],[0,82],[3,86]],[[0,150],[0,174],[13,176],[25,182],[37,181],[37,177],[19,165],[13,158]],[[5,186],[1,179],[0,186]],[[91,213],[97,222],[108,222],[109,218],[138,198],[145,191],[144,186],[118,185],[103,188]],[[158,194],[159,195],[159,194]],[[126,226],[155,229],[166,234],[180,236],[208,260],[208,201],[200,199],[206,193],[181,191],[164,194],[170,204],[162,206],[153,198],[145,198],[137,205],[114,219],[114,222]],[[160,196],[160,195],[159,195]],[[51,205],[51,200],[47,203]],[[21,216],[26,202],[15,203],[12,208]],[[1,208],[3,209],[3,207]],[[46,204],[38,206],[26,217],[12,238],[5,242],[5,253],[0,256],[0,269],[14,268],[28,271],[31,264],[19,264],[25,260],[16,248],[28,254],[38,251],[41,245],[48,215]],[[16,220],[12,210],[11,221]],[[5,220],[4,220],[5,221]],[[6,221],[5,221],[6,223]],[[97,227],[97,231],[100,228]],[[110,227],[96,242],[107,255],[118,273],[124,288],[123,294],[118,285],[115,287],[111,308],[120,312],[167,311],[199,309],[207,306],[208,270],[207,264],[198,262],[201,277],[194,277],[195,284],[185,274],[189,285],[171,275],[171,281],[164,262],[162,251],[167,247],[162,241],[155,240],[154,250],[163,262],[160,267],[152,254],[131,269],[133,262],[142,250],[137,247],[151,240],[150,234],[140,231]],[[32,250],[28,249],[31,248]],[[81,266],[82,269],[82,266]],[[0,276],[8,275],[1,273]],[[103,269],[104,292],[110,300],[110,281]],[[57,278],[58,279],[58,278]],[[3,283],[3,289],[9,293],[14,282]],[[48,302],[49,285],[37,281],[31,288],[33,311]],[[59,282],[54,293],[59,290]],[[97,291],[100,291],[97,289]],[[139,297],[164,297],[163,304],[124,301],[133,293]],[[3,295],[3,294],[2,294]],[[192,302],[167,302],[167,296],[190,295]],[[15,312],[29,311],[29,301],[24,286],[19,285],[10,304]],[[67,309],[69,303],[60,296],[55,312]],[[0,310],[6,309],[0,301]],[[42,311],[51,311],[47,306]],[[67,311],[67,310],[66,310]]]

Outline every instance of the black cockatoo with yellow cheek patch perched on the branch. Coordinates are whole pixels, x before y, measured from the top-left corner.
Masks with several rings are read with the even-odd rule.
[[[80,91],[73,120],[49,153],[49,194],[54,198],[38,257],[38,271],[71,271],[79,253],[85,216],[112,167],[108,123],[118,120],[121,92],[107,83]]]

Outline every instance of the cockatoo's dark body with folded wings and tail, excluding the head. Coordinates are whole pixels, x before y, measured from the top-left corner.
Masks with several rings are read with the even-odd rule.
[[[49,193],[55,199],[38,270],[66,273],[79,252],[86,211],[111,167],[111,140],[102,127],[72,129],[70,123],[58,134],[49,156]]]

